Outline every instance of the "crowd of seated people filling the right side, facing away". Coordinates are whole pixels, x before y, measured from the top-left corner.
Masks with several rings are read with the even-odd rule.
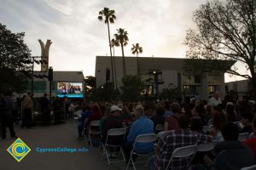
[[[79,138],[83,130],[81,127],[88,129],[90,122],[95,120],[100,121],[102,143],[106,141],[108,130],[125,127],[123,150],[126,161],[131,156],[137,136],[155,133],[154,128],[162,125],[163,133],[160,133],[157,139],[155,154],[151,158],[152,169],[165,169],[173,150],[179,147],[211,141],[218,141],[218,144],[209,156],[207,154],[199,156],[201,160],[196,163],[203,164],[199,168],[207,169],[212,165],[216,169],[232,169],[229,166],[224,168],[221,166],[224,164],[221,161],[223,157],[228,160],[230,153],[233,153],[232,150],[235,150],[234,153],[241,153],[241,156],[237,154],[234,159],[230,158],[226,161],[241,159],[240,162],[237,161],[237,165],[235,164],[235,169],[250,166],[256,162],[254,157],[256,156],[256,105],[252,101],[221,101],[216,93],[209,102],[193,99],[184,103],[169,100],[137,103],[113,101],[112,103],[91,103],[85,108],[79,124]],[[237,122],[240,123],[237,124]],[[239,133],[248,133],[248,138],[243,142],[238,141]],[[112,142],[116,141],[113,139]],[[229,144],[231,151],[223,154],[222,151],[229,148]],[[137,144],[135,150],[148,152],[153,147],[154,144],[143,146]],[[247,156],[247,161],[242,161],[244,155]],[[131,157],[136,161],[136,155]],[[170,164],[169,169],[188,169],[190,161],[189,159],[175,160]]]

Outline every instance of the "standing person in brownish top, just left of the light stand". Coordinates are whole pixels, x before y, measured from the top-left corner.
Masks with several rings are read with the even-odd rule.
[[[33,101],[32,101],[32,93],[27,92],[26,97],[23,100],[23,120],[21,127],[32,127],[32,107],[33,107]]]

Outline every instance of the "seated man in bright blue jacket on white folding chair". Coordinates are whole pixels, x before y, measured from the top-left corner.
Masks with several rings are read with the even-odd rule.
[[[154,122],[144,115],[143,107],[137,106],[134,112],[136,121],[131,123],[130,131],[127,136],[127,143],[124,145],[126,161],[129,161],[130,159],[131,150],[137,136],[140,134],[154,133]],[[136,144],[134,150],[136,150],[137,153],[143,154],[152,151],[153,148],[153,143]],[[135,160],[135,158],[136,156],[133,157],[133,160]]]

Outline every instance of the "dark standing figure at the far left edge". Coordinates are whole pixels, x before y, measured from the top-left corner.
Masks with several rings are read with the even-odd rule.
[[[12,111],[15,109],[15,102],[12,99],[12,93],[8,91],[1,99],[1,135],[2,139],[6,139],[6,127],[9,127],[11,138],[17,138],[15,135],[14,117]]]

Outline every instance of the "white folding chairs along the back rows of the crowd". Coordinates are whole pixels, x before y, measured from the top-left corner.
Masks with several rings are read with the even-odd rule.
[[[94,128],[96,127],[99,127],[100,125],[100,121],[92,121],[90,122],[90,127],[88,129],[88,137],[89,137],[89,141],[90,141],[90,145],[92,146],[92,138],[91,138],[91,135],[101,135],[101,133],[99,131],[95,131]],[[162,129],[163,127],[161,126],[157,126],[155,128],[155,130],[163,130]],[[108,139],[112,137],[115,137],[115,136],[123,136],[123,138],[125,139],[125,133],[126,133],[126,128],[113,128],[113,129],[110,129],[108,131],[108,136],[107,136],[107,139],[106,139],[106,142],[105,144],[102,144],[102,159],[104,156],[107,157],[107,160],[108,160],[108,164],[111,164],[111,163],[116,163],[116,162],[120,162],[120,161],[125,161],[125,155],[124,155],[124,152],[121,148],[121,145],[123,143],[119,143],[119,144],[109,144],[108,143]],[[239,134],[239,140],[240,141],[243,141],[245,139],[247,139],[249,136],[249,133],[240,133]],[[135,144],[134,144],[134,147],[137,143],[148,143],[148,142],[155,142],[157,139],[157,135],[155,133],[152,133],[152,134],[143,134],[143,135],[139,135],[137,136],[137,139],[135,140]],[[218,141],[213,141],[211,143],[207,143],[207,144],[200,144],[200,145],[190,145],[190,146],[184,146],[184,147],[181,147],[181,148],[177,148],[176,150],[173,151],[172,153],[172,157],[166,167],[166,169],[168,169],[170,163],[172,162],[172,160],[174,158],[177,158],[177,157],[186,157],[186,156],[195,156],[195,153],[197,151],[209,151],[209,150],[213,150],[215,144],[217,144]],[[111,161],[109,159],[109,157],[111,156],[111,153],[109,153],[109,150],[108,148],[115,148],[115,150],[118,150],[119,152],[119,155],[121,154],[122,155],[122,159],[119,160],[119,161]],[[136,167],[135,167],[135,162],[132,160],[132,155],[133,154],[136,154],[137,156],[148,156],[148,159],[150,158],[150,156],[152,156],[154,154],[154,150],[152,150],[152,152],[149,152],[147,154],[140,154],[140,153],[137,153],[136,150],[134,150],[134,147],[132,148],[131,150],[131,157],[128,161],[128,165],[126,167],[126,169],[128,169],[129,165],[130,165],[130,162],[131,162],[131,165],[132,167],[136,170]],[[191,160],[192,161],[192,160]],[[139,162],[137,162],[139,163]]]

